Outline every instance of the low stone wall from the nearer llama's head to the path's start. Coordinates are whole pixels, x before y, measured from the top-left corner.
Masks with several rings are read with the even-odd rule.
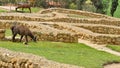
[[[37,35],[37,39],[41,41],[55,41],[55,42],[67,42],[73,43],[78,42],[78,36],[75,34],[66,34],[66,33],[49,33],[45,34],[42,32],[34,32]]]

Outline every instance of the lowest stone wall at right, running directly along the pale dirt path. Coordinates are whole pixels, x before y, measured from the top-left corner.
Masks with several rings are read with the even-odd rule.
[[[78,34],[78,38],[91,41],[95,44],[120,45],[120,35]]]

